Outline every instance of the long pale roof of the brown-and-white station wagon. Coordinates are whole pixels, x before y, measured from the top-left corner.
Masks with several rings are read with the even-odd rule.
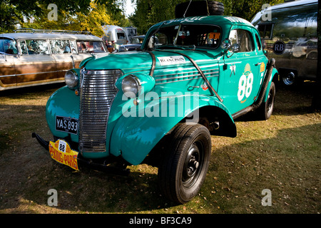
[[[1,33],[0,38],[11,38],[11,39],[76,39],[81,41],[102,41],[98,36],[93,36],[89,34],[73,34],[73,33],[33,33],[33,32],[18,32],[18,33]]]

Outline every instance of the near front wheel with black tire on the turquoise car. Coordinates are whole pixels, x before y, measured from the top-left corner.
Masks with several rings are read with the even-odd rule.
[[[162,194],[183,204],[198,194],[210,162],[211,138],[205,126],[180,124],[171,133],[158,168]]]

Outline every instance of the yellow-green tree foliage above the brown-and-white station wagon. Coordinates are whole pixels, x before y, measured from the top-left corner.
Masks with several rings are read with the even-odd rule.
[[[117,1],[117,3],[116,3]],[[4,0],[0,4],[1,33],[9,33],[22,28],[43,28],[73,31],[91,31],[102,36],[101,25],[115,24],[129,26],[120,4],[125,0]],[[48,19],[49,4],[57,6],[57,21]]]

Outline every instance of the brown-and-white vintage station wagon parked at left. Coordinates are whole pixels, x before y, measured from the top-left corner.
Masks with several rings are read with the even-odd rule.
[[[68,69],[93,53],[106,53],[89,33],[19,29],[0,34],[0,90],[64,81]]]

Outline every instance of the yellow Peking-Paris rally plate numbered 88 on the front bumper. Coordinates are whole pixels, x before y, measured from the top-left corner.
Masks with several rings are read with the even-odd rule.
[[[49,153],[51,158],[56,160],[56,162],[67,165],[74,170],[78,170],[78,152],[71,150],[68,142],[66,142],[65,140],[49,142]]]

